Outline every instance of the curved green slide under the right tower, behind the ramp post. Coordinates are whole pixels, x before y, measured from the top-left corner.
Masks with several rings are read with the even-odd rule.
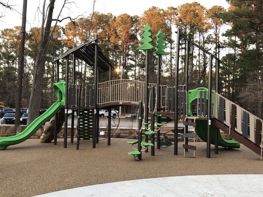
[[[207,121],[196,120],[195,132],[205,142],[207,142]],[[215,144],[215,131],[216,127],[211,125],[211,143]],[[235,140],[224,139],[220,132],[218,132],[218,145],[226,148],[240,148],[240,144]]]

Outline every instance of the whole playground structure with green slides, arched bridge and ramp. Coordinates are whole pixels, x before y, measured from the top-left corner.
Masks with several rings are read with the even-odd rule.
[[[218,146],[228,148],[238,148],[239,141],[258,155],[263,156],[263,120],[249,113],[240,106],[234,104],[228,99],[220,95],[219,90],[219,71],[220,60],[213,56],[208,51],[189,40],[187,37],[177,31],[177,55],[176,55],[176,71],[175,71],[175,86],[167,87],[160,83],[161,58],[158,55],[157,68],[157,83],[149,83],[149,56],[146,52],[146,81],[136,81],[128,79],[112,80],[113,66],[105,57],[101,48],[97,44],[95,38],[89,42],[79,45],[63,56],[59,57],[56,62],[57,82],[59,79],[59,61],[66,59],[65,73],[65,93],[63,88],[56,91],[58,101],[54,103],[44,116],[39,116],[39,119],[32,123],[20,134],[12,137],[0,138],[0,149],[3,150],[9,145],[20,143],[30,137],[38,127],[40,127],[47,119],[55,115],[57,111],[65,106],[65,129],[64,129],[64,148],[67,148],[67,131],[68,131],[68,109],[72,109],[72,121],[74,121],[74,112],[78,112],[78,128],[77,128],[77,149],[79,148],[80,140],[92,140],[92,147],[96,148],[96,143],[99,143],[99,109],[108,109],[111,114],[113,107],[121,105],[130,105],[139,107],[139,132],[138,141],[131,144],[138,144],[138,149],[131,152],[130,155],[142,159],[143,150],[148,151],[148,146],[151,148],[151,155],[154,156],[156,135],[156,147],[160,148],[160,128],[165,127],[165,123],[160,122],[162,117],[167,115],[172,116],[174,121],[174,155],[178,155],[178,132],[182,129],[178,127],[179,120],[184,121],[184,138],[183,148],[187,152],[196,150],[195,145],[188,144],[188,138],[195,138],[198,135],[203,141],[207,142],[207,158],[211,155],[211,143],[215,144],[215,154],[218,154]],[[179,89],[179,49],[181,39],[186,40],[187,61],[185,65],[185,85],[184,90]],[[189,68],[189,46],[190,44],[203,50],[209,55],[209,87],[197,88],[188,90],[188,68]],[[73,55],[73,76],[72,84],[69,84],[69,60]],[[75,79],[75,60],[78,58],[94,67],[94,84],[85,87],[85,99],[81,98],[82,84],[76,86]],[[213,61],[216,62],[216,82],[215,91],[212,91],[212,66]],[[109,81],[99,82],[100,72],[109,71]],[[59,82],[62,83],[62,82]],[[54,86],[56,88],[56,85]],[[62,95],[61,95],[62,94]],[[64,98],[64,99],[63,99]],[[142,116],[144,112],[144,117]],[[40,118],[41,117],[41,118]],[[150,121],[149,121],[150,117]],[[74,128],[71,128],[71,143],[74,142]],[[108,145],[111,145],[111,118],[108,119]],[[194,127],[193,133],[188,133],[188,126]],[[56,127],[55,127],[56,128]],[[144,130],[141,130],[144,128]],[[225,140],[220,131],[224,131],[234,139]],[[27,133],[27,135],[25,134]],[[54,131],[57,133],[57,131]],[[145,141],[142,142],[142,135],[145,135]],[[149,143],[148,136],[151,136]],[[56,134],[54,135],[54,144],[57,143]]]

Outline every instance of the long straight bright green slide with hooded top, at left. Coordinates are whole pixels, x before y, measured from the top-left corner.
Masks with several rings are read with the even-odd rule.
[[[53,84],[57,101],[53,103],[41,116],[36,118],[24,131],[9,137],[0,137],[0,150],[14,144],[21,143],[32,136],[46,121],[52,118],[61,107],[65,106],[65,81]]]

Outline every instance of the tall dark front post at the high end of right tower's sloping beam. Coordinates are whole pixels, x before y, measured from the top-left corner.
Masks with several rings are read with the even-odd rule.
[[[180,56],[180,29],[177,30],[176,66],[175,66],[175,112],[174,112],[174,155],[178,155],[178,83],[179,83],[179,56]]]

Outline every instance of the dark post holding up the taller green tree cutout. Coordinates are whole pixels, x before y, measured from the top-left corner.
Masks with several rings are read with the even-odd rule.
[[[149,91],[148,91],[148,86],[149,86],[149,52],[148,50],[145,51],[146,59],[145,59],[145,122],[148,123],[149,118]],[[147,126],[146,126],[147,127]],[[148,142],[148,135],[145,136],[145,141]],[[148,152],[148,149],[145,151]]]

